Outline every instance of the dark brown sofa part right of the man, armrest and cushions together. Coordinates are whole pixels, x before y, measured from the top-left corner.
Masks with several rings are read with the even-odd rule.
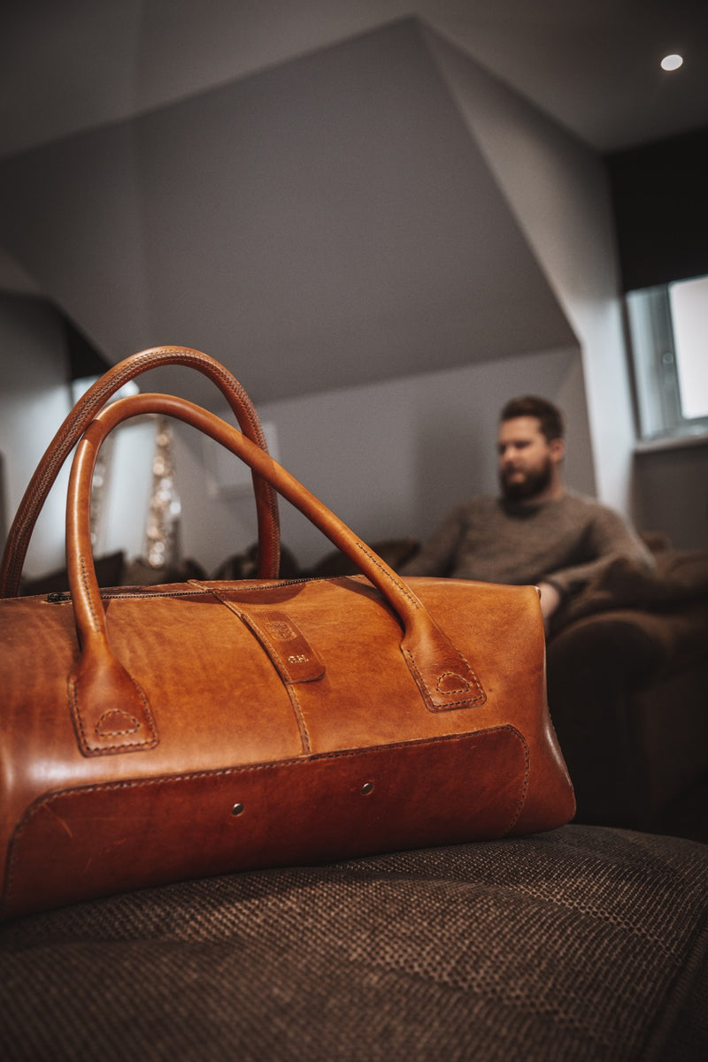
[[[708,553],[616,562],[558,617],[547,675],[576,821],[708,841]]]

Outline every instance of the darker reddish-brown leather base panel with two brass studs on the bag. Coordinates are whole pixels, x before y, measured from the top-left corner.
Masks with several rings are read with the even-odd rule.
[[[18,824],[7,917],[145,886],[490,839],[524,804],[512,726],[49,793]]]

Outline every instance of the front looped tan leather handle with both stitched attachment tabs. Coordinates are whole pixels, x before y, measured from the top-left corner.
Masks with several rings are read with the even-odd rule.
[[[70,689],[74,720],[80,739],[83,737],[82,751],[85,754],[145,748],[146,743],[157,740],[154,730],[147,741],[141,738],[138,742],[132,737],[117,741],[115,738],[116,720],[133,720],[135,726],[127,725],[124,732],[135,734],[145,734],[152,727],[152,722],[142,691],[111,649],[94,568],[89,527],[90,486],[99,448],[118,424],[145,413],[176,417],[225,446],[271,483],[354,561],[398,615],[403,627],[401,650],[431,710],[471,707],[484,702],[485,695],[469,663],[411,588],[302,483],[213,413],[183,398],[144,394],[119,399],[101,410],[77,448],[69,480],[67,564],[81,643],[81,658]],[[104,724],[103,720],[111,720],[112,729],[106,729],[108,724]],[[103,732],[105,740],[100,736]]]

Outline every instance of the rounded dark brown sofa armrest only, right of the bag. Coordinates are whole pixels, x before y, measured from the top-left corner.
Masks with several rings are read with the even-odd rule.
[[[580,822],[662,828],[708,781],[708,604],[595,613],[547,646],[549,703]]]

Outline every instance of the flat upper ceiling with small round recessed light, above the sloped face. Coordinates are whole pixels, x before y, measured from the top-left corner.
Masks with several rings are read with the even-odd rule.
[[[0,155],[411,15],[600,152],[708,123],[706,0],[5,0]]]

